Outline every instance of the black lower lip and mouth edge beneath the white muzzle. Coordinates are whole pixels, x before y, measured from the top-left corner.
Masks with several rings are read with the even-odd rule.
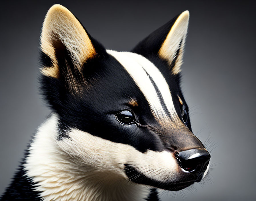
[[[135,182],[138,184],[144,184],[147,186],[153,186],[153,187],[161,188],[164,190],[172,190],[172,191],[181,190],[183,188],[190,186],[195,182],[194,180],[181,181],[181,182],[175,182],[175,183],[157,181],[139,172],[130,164],[125,164],[124,172],[126,176],[129,178],[129,180],[132,182]]]

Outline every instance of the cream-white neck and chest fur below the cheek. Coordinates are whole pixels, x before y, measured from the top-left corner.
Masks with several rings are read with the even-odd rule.
[[[58,117],[53,114],[39,127],[24,165],[27,176],[38,184],[35,190],[41,192],[45,201],[139,201],[147,198],[149,188],[129,182],[121,173],[114,175],[106,169],[92,168],[90,164],[87,169],[81,164],[73,165],[79,159],[59,147],[57,122]]]

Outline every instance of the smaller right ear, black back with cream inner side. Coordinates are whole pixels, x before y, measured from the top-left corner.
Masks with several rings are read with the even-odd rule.
[[[178,74],[182,64],[188,24],[189,11],[184,11],[151,33],[132,52],[144,57],[157,55],[167,61],[173,74]]]

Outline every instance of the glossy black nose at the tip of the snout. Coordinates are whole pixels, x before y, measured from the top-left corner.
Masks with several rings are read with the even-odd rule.
[[[189,149],[182,152],[176,152],[175,155],[181,168],[190,172],[195,177],[195,181],[199,182],[202,179],[203,173],[211,158],[207,150],[201,148]]]

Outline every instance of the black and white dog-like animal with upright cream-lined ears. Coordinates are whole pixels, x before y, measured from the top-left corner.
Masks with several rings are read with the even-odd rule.
[[[41,91],[52,113],[2,200],[158,200],[207,174],[180,88],[184,11],[131,52],[106,50],[65,7],[41,32]]]

